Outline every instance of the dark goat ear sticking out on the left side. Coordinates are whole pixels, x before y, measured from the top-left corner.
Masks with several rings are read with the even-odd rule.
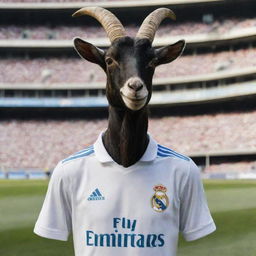
[[[106,64],[104,61],[104,50],[83,41],[81,38],[73,39],[74,47],[77,53],[84,59],[100,65],[104,70],[106,69]]]

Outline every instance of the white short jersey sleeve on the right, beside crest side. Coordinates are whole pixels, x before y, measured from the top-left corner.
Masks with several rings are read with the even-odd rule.
[[[180,231],[186,241],[199,239],[216,230],[207,205],[200,170],[192,160],[180,200]]]

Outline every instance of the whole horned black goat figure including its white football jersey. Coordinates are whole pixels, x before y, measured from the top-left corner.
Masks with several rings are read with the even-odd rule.
[[[147,135],[154,69],[184,48],[184,41],[160,49],[151,43],[161,20],[175,16],[157,9],[130,38],[109,11],[83,8],[74,15],[82,14],[96,17],[111,40],[103,51],[74,39],[78,53],[107,74],[108,128],[54,169],[34,232],[67,240],[72,230],[77,256],[176,255],[179,231],[192,241],[216,227],[198,167]]]

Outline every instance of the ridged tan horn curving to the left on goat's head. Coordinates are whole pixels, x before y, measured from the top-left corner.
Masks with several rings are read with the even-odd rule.
[[[110,42],[115,39],[124,37],[125,30],[122,23],[110,11],[101,7],[84,7],[73,13],[73,17],[89,15],[98,20],[108,34]]]

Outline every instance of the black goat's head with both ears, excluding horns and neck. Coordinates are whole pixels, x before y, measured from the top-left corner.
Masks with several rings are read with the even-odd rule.
[[[184,41],[155,50],[148,39],[123,37],[103,51],[79,38],[74,40],[80,56],[100,65],[107,74],[107,98],[118,108],[137,111],[146,106],[152,94],[155,67],[176,59]]]

